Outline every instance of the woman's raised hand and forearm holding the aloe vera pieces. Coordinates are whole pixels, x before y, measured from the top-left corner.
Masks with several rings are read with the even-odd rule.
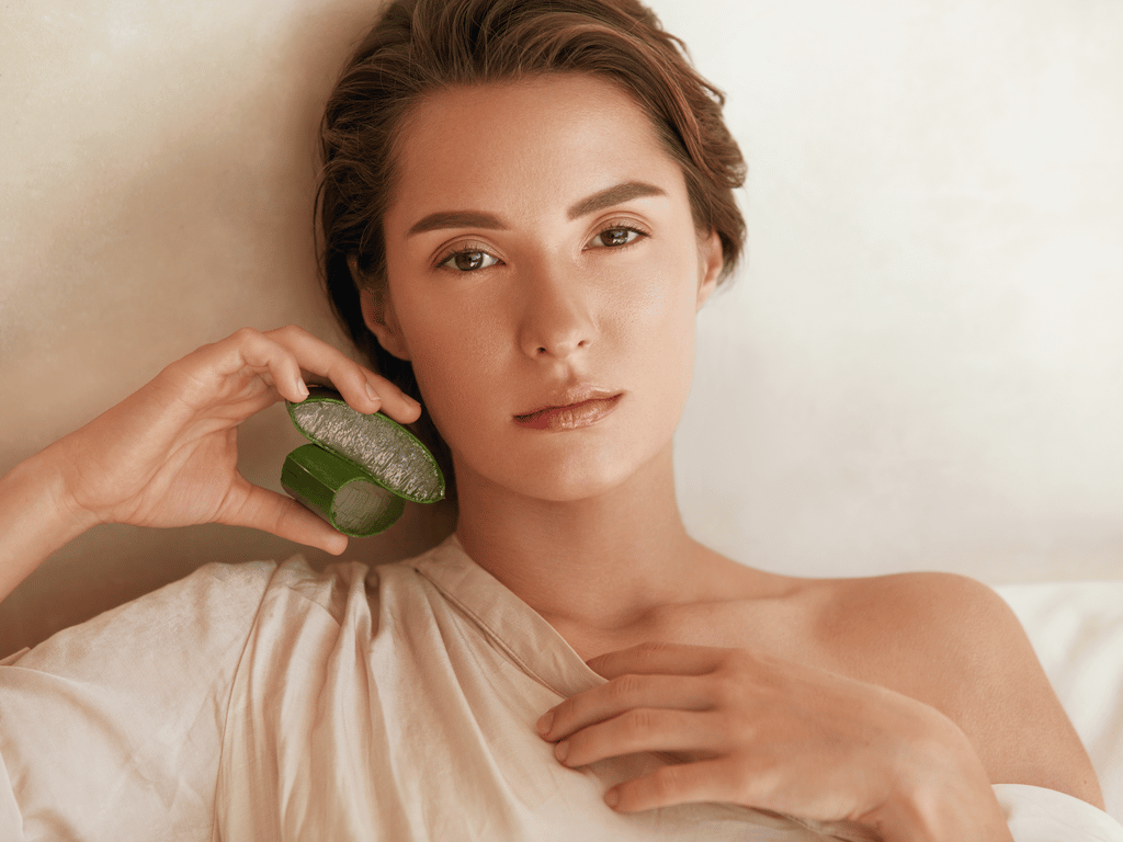
[[[420,408],[308,331],[243,329],[164,368],[85,427],[0,478],[0,597],[98,523],[229,523],[339,553],[347,539],[302,505],[237,470],[237,428],[308,395],[303,372],[360,412],[398,421]]]

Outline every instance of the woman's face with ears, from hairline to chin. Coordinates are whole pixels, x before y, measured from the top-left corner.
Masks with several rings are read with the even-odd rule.
[[[399,140],[385,323],[364,312],[462,491],[588,497],[669,448],[721,248],[643,111],[553,75],[432,94]]]

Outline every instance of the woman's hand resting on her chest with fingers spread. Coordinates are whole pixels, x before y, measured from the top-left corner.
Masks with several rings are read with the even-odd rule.
[[[907,696],[740,649],[646,643],[588,666],[609,681],[539,721],[558,759],[684,761],[610,789],[617,811],[727,802],[858,822],[886,842],[1011,839],[970,742]]]

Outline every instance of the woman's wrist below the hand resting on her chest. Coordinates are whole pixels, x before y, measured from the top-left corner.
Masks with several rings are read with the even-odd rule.
[[[932,713],[920,735],[906,738],[895,786],[866,821],[885,842],[1013,842],[974,745]]]

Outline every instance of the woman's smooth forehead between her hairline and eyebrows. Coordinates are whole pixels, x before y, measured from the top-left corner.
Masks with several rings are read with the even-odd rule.
[[[629,182],[685,195],[679,167],[647,113],[618,85],[584,74],[429,94],[403,122],[396,158],[387,216],[481,203],[513,213],[542,202],[568,209]]]

